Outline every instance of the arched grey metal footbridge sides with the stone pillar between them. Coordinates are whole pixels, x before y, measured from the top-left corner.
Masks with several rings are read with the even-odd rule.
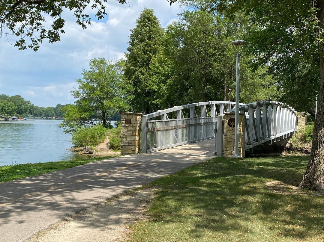
[[[235,128],[230,127],[228,119],[234,117],[234,113],[235,102],[210,101],[144,115],[142,153],[215,138],[214,154],[229,156],[234,152]],[[296,132],[296,111],[288,105],[275,101],[240,103],[239,113],[242,156],[246,151],[261,149]]]

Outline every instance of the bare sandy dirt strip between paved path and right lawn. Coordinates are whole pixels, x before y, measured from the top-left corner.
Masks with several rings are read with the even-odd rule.
[[[88,207],[31,237],[28,242],[110,242],[128,238],[130,224],[146,219],[153,189]]]

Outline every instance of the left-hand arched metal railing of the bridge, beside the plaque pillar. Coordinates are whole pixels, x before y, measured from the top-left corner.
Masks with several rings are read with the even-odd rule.
[[[217,113],[223,114],[234,105],[235,102],[199,102],[143,115],[142,153],[214,138]]]

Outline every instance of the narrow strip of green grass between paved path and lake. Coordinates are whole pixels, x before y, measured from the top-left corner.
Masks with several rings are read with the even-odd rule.
[[[64,160],[44,163],[18,164],[11,166],[0,166],[0,183],[17,180],[24,177],[40,175],[52,171],[59,171],[79,165],[84,165],[96,160],[112,158],[111,156],[93,158],[88,160]]]

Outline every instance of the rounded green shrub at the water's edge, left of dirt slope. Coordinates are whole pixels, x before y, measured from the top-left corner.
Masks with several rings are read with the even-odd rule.
[[[106,138],[107,128],[102,125],[78,127],[72,135],[72,144],[75,147],[96,146]]]

